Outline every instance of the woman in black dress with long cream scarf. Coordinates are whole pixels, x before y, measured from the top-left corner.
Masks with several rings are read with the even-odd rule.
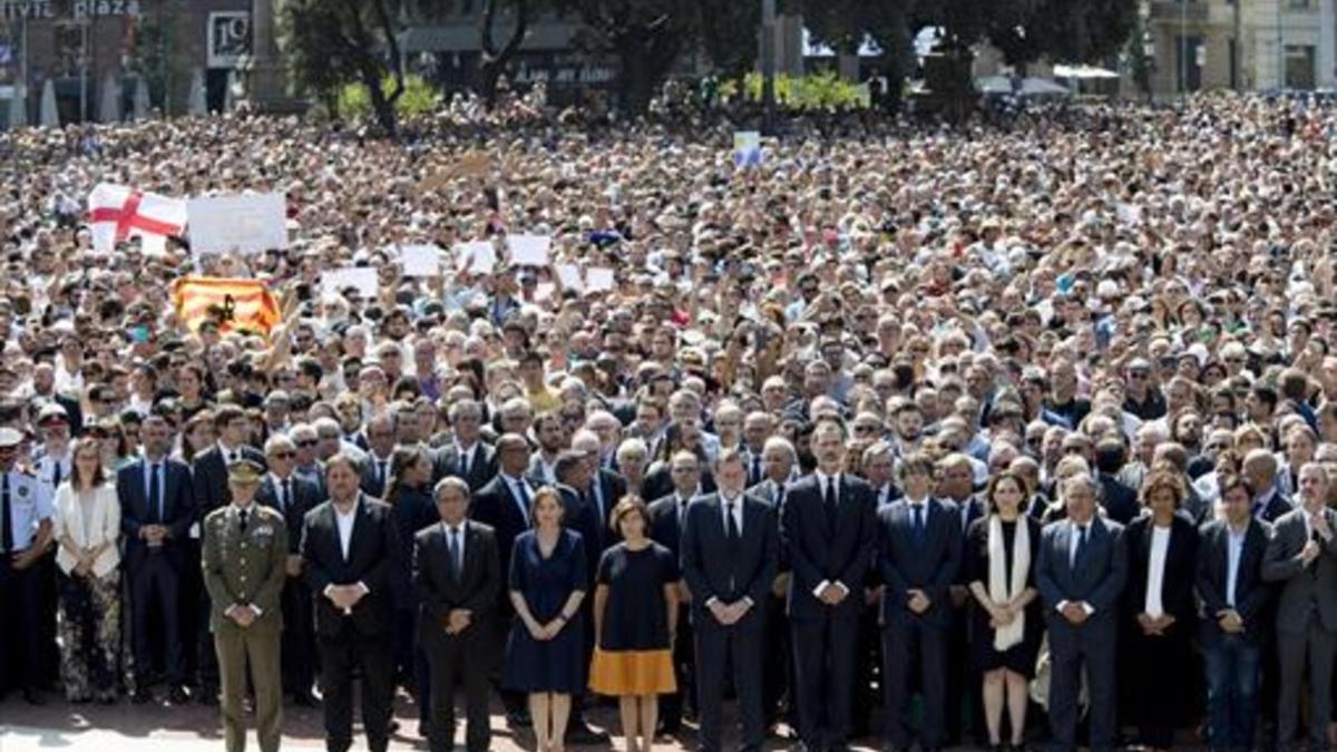
[[[965,575],[979,605],[975,614],[975,661],[984,674],[984,723],[989,747],[1001,748],[1007,705],[1012,749],[1025,737],[1028,682],[1039,652],[1039,599],[1035,565],[1040,523],[1021,510],[1027,486],[1004,471],[989,480],[989,514],[971,523],[965,535]]]

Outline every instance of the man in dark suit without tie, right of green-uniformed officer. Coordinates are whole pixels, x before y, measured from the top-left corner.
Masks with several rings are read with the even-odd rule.
[[[360,491],[353,458],[334,455],[325,472],[330,498],[306,512],[301,547],[316,602],[325,747],[345,752],[353,743],[353,674],[361,670],[368,747],[385,752],[394,694],[390,574],[398,531],[389,504]]]

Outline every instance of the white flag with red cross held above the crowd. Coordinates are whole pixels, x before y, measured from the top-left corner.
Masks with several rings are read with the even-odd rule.
[[[138,237],[144,250],[162,252],[167,248],[167,236],[180,236],[186,227],[186,202],[98,183],[88,194],[88,221],[95,250],[111,252],[116,244]]]

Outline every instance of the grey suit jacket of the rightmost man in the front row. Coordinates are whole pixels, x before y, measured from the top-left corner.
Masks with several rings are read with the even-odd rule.
[[[1309,541],[1304,507],[1284,514],[1273,526],[1262,562],[1262,578],[1280,582],[1277,593],[1277,632],[1298,634],[1309,625],[1309,605],[1318,603],[1318,620],[1328,632],[1337,632],[1337,534],[1325,543],[1309,566],[1300,551]],[[1328,525],[1337,531],[1337,512],[1324,508]]]

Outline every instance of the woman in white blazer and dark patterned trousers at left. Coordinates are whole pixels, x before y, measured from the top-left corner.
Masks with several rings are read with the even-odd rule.
[[[56,488],[55,507],[66,697],[110,705],[120,654],[120,499],[98,439],[75,443],[74,472]]]

